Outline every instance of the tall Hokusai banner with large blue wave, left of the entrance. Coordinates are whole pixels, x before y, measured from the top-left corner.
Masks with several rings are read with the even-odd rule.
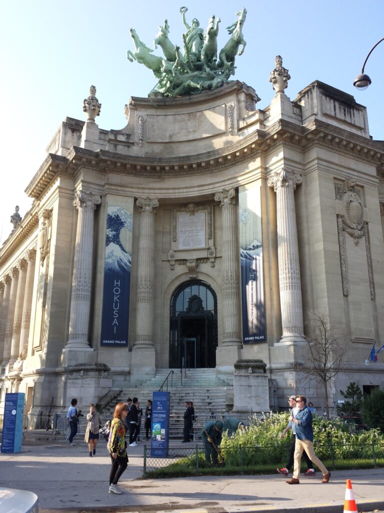
[[[127,346],[130,310],[132,213],[108,206],[106,214],[101,346]]]

